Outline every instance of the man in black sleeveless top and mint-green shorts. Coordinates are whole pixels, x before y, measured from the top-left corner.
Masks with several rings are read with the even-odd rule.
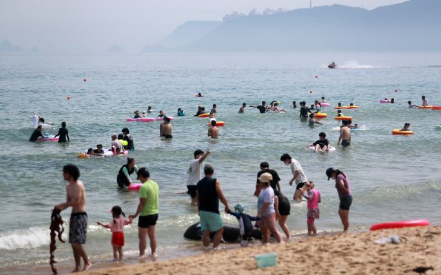
[[[219,201],[225,205],[225,212],[229,212],[227,199],[220,189],[220,183],[213,178],[214,168],[212,165],[205,164],[205,177],[196,184],[196,201],[198,202],[198,212],[203,230],[202,242],[207,249],[209,247],[209,235],[216,232],[213,237],[213,248],[218,247],[223,235],[223,222],[219,213]]]

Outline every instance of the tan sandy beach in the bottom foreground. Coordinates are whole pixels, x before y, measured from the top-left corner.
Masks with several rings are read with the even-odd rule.
[[[398,235],[402,243],[378,245],[378,238]],[[257,269],[254,256],[275,252],[278,264]],[[301,238],[282,245],[205,252],[167,261],[92,269],[90,275],[123,274],[416,274],[432,266],[441,274],[441,227],[356,232]],[[86,273],[84,273],[86,274]]]

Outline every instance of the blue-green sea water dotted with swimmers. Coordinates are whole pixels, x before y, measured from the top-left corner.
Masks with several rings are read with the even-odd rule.
[[[327,69],[331,61],[337,69]],[[413,218],[440,225],[441,131],[435,125],[441,123],[441,112],[407,108],[408,100],[420,105],[422,95],[441,105],[440,87],[440,53],[0,56],[0,274],[50,272],[50,214],[65,200],[62,168],[67,163],[78,165],[87,192],[85,249],[92,263],[108,263],[111,234],[96,221],[110,221],[108,210],[114,205],[134,214],[138,194],[117,190],[116,175],[125,157],[80,159],[76,154],[98,143],[110,147],[111,134],[125,127],[136,148],[129,156],[138,167],[147,167],[161,190],[156,226],[160,260],[201,250],[200,243],[183,238],[187,227],[198,221],[196,208],[189,205],[189,196],[176,194],[186,190],[186,172],[196,149],[209,148],[206,163],[214,165],[230,207],[243,203],[248,214],[256,214],[253,193],[262,161],[278,172],[282,192],[292,197],[291,170],[280,161],[289,153],[322,194],[316,221],[320,232],[342,230],[335,182],[325,176],[328,167],[351,179],[350,230]],[[194,96],[198,92],[204,97]],[[300,121],[298,108],[290,108],[291,102],[310,105],[321,96],[331,103],[325,108],[328,117],[321,120],[323,125],[310,128]],[[396,103],[380,104],[385,97]],[[259,114],[247,108],[238,114],[242,103],[259,105],[263,100],[280,101],[288,112]],[[367,130],[352,132],[350,147],[311,152],[306,145],[316,141],[319,132],[336,146],[340,122],[333,119],[333,107],[338,102],[360,105],[342,112]],[[209,111],[214,103],[218,121],[225,121],[217,143],[207,139],[207,119],[192,116],[198,105]],[[172,141],[159,138],[158,122],[125,121],[147,105],[154,110],[151,116],[164,110],[175,117]],[[187,116],[176,117],[178,108]],[[56,134],[65,121],[70,143],[28,142],[34,112],[54,122],[44,132]],[[391,130],[405,122],[415,134],[393,136]],[[291,203],[287,224],[292,234],[307,231],[306,212],[305,202]],[[68,221],[70,210],[61,214]],[[222,217],[236,223],[232,216]],[[65,228],[67,233],[68,223]],[[125,235],[128,262],[136,263],[136,221]],[[55,255],[61,270],[73,266],[67,243],[57,243]]]

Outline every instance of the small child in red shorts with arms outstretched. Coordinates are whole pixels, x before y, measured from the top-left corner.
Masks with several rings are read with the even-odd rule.
[[[121,214],[124,216],[121,217]],[[128,225],[132,223],[132,219],[127,220],[125,218],[125,214],[121,207],[114,206],[112,207],[112,216],[113,220],[110,223],[103,224],[97,221],[98,225],[102,227],[110,229],[112,232],[112,247],[113,247],[113,260],[114,261],[122,261],[123,260],[123,246],[124,246],[124,225]]]

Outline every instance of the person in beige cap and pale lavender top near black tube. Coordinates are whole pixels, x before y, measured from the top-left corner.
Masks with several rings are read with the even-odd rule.
[[[276,238],[278,243],[282,242],[282,236],[280,236],[276,227],[276,218],[280,216],[278,212],[278,201],[276,201],[274,191],[271,185],[269,185],[272,179],[273,176],[269,173],[263,173],[259,177],[262,190],[257,200],[257,216],[260,218],[259,226],[260,232],[262,232],[262,243],[264,245],[269,243],[270,233]]]

